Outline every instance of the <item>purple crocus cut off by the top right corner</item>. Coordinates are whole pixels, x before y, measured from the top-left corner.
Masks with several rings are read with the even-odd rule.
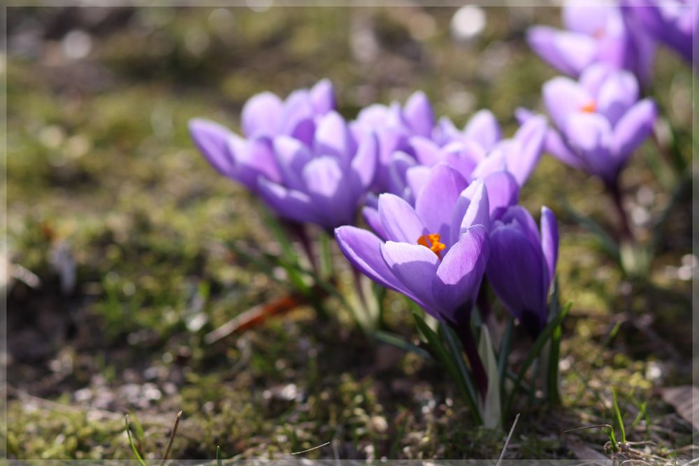
[[[697,0],[622,0],[624,11],[656,41],[664,43],[688,63],[692,46],[699,36],[699,1]]]

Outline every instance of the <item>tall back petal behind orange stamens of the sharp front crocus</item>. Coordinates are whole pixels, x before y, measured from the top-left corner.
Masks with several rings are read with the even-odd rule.
[[[451,166],[439,163],[432,168],[427,184],[415,199],[415,212],[429,233],[449,238],[456,200],[467,186],[466,179]]]

